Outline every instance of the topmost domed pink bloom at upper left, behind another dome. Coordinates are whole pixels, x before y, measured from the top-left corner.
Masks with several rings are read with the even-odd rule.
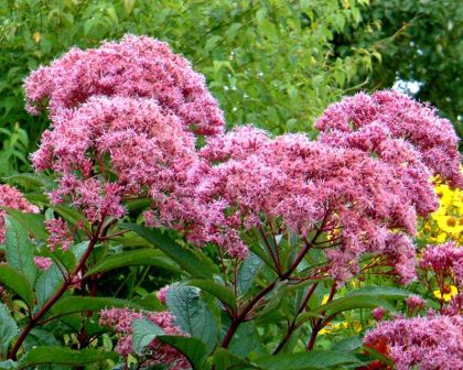
[[[72,48],[24,84],[28,109],[35,113],[49,99],[52,116],[78,108],[94,96],[154,100],[200,134],[223,132],[224,118],[204,77],[169,45],[147,36],[127,35],[98,48]]]

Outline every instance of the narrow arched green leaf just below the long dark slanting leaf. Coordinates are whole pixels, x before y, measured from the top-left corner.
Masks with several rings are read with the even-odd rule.
[[[162,252],[155,249],[139,249],[105,257],[105,259],[87,271],[86,276],[131,265],[153,265],[180,272],[179,268],[166,260]]]

